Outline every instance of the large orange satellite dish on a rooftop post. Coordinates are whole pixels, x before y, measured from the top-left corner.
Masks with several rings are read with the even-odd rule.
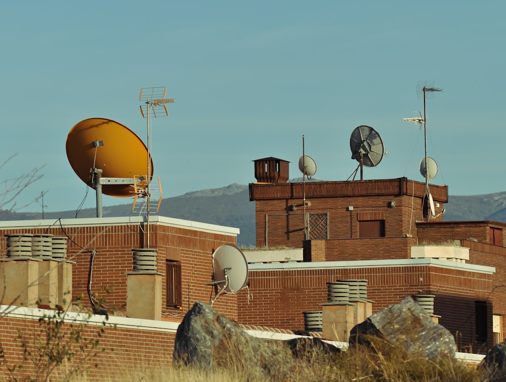
[[[100,142],[100,146],[96,142]],[[102,170],[101,176],[105,178],[132,178],[132,184],[134,176],[147,172],[148,149],[142,139],[128,127],[110,119],[90,118],[77,123],[68,133],[66,148],[72,169],[93,188],[90,177],[93,168]],[[151,180],[151,158],[149,168]],[[119,198],[132,197],[134,187],[104,184],[102,193]]]

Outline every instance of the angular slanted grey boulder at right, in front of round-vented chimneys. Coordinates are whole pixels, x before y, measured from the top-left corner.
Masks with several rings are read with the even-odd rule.
[[[349,343],[370,345],[369,336],[382,338],[403,349],[408,357],[425,357],[432,361],[444,356],[455,357],[456,346],[451,333],[432,321],[410,296],[355,325]]]

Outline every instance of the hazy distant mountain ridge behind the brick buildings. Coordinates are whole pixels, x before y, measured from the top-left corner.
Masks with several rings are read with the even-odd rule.
[[[317,181],[318,179],[312,179]],[[292,179],[292,182],[302,181]],[[94,197],[94,195],[92,196]],[[445,221],[452,220],[494,220],[506,222],[506,192],[473,195],[449,196],[444,205]],[[132,204],[104,207],[105,217],[131,216]],[[237,243],[241,246],[255,246],[255,202],[249,201],[248,186],[233,183],[226,187],[203,189],[186,193],[174,198],[163,199],[158,215],[178,219],[199,221],[237,227],[240,234]],[[95,217],[96,210],[89,208],[80,210],[77,217]],[[46,219],[74,218],[75,211],[47,212]],[[40,213],[9,213],[0,216],[0,220],[40,219]]]

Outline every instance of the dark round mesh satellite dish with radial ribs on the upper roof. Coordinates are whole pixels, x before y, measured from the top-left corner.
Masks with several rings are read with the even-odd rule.
[[[355,171],[348,177],[353,180],[360,168],[360,180],[364,180],[364,166],[375,167],[385,156],[385,145],[378,132],[370,126],[356,127],[350,136],[351,159],[358,161]],[[347,180],[348,180],[347,179]]]

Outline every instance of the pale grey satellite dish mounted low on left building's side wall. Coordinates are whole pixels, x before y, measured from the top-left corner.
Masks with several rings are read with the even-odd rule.
[[[222,293],[237,293],[246,287],[248,281],[248,262],[242,251],[234,245],[224,244],[213,253],[213,282],[204,285],[217,285],[216,296],[209,300],[213,305]]]

